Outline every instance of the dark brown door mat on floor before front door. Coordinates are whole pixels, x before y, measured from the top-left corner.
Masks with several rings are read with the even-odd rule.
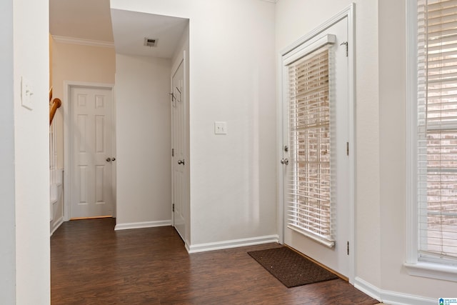
[[[248,254],[287,288],[338,279],[335,274],[286,246]]]

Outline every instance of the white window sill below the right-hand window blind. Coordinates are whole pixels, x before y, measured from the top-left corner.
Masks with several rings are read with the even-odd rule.
[[[446,281],[457,281],[457,267],[418,262],[416,264],[405,263],[408,274],[412,276],[428,277],[430,279],[443,279]]]

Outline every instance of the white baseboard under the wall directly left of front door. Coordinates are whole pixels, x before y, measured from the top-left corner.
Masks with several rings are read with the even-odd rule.
[[[186,249],[189,252],[189,254],[191,254],[191,253],[197,253],[197,252],[231,249],[231,248],[236,248],[238,246],[252,246],[252,245],[256,245],[256,244],[277,243],[278,241],[279,241],[278,235],[268,235],[268,236],[251,237],[248,239],[232,239],[229,241],[217,241],[214,243],[206,243],[206,244],[194,244],[194,245],[186,244]]]

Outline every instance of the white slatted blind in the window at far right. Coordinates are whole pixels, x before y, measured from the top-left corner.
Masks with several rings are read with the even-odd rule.
[[[418,259],[457,264],[457,1],[418,0]]]

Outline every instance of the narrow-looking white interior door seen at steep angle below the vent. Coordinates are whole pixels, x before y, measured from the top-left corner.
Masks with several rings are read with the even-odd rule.
[[[184,61],[171,77],[171,124],[172,124],[172,173],[173,173],[173,221],[176,231],[185,240],[186,229],[186,96],[184,89]]]

